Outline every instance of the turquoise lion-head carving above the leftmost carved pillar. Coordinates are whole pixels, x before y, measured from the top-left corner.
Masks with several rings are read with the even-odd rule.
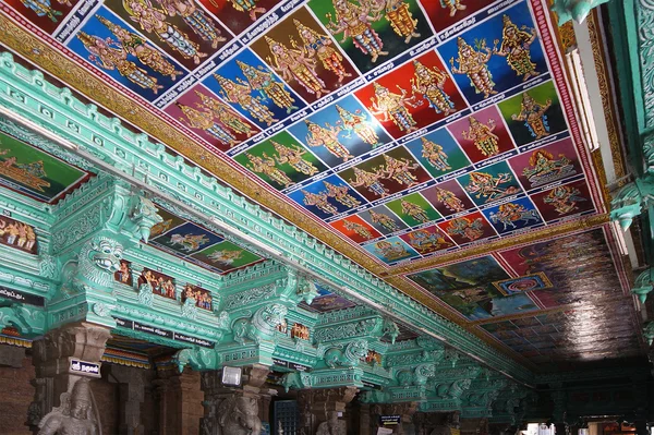
[[[62,294],[70,298],[93,290],[111,292],[113,274],[120,268],[122,253],[122,244],[107,237],[98,235],[86,241],[77,259],[63,267]]]

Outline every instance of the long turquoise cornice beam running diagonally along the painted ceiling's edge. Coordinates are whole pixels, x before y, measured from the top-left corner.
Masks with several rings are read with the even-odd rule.
[[[522,382],[531,380],[532,373],[524,366],[221,185],[215,178],[206,177],[197,167],[186,165],[181,156],[170,156],[164,145],[124,129],[118,119],[102,116],[94,105],[82,104],[69,89],[58,88],[39,72],[15,63],[11,55],[0,55],[0,106],[75,144],[78,147],[75,153],[95,159],[94,164],[105,165],[105,170],[147,185],[161,195],[160,204],[164,201],[183,204],[189,213],[206,219],[205,222],[215,222],[220,228],[227,223],[261,243],[275,246],[284,261],[305,267],[335,287],[355,292],[419,329],[443,337],[450,346],[475,355],[495,370]],[[255,252],[259,250],[253,243],[233,239]]]

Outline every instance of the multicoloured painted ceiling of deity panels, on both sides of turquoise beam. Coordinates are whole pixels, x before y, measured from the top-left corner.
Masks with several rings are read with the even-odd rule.
[[[11,51],[522,362],[640,351],[544,0],[0,7]],[[0,181],[28,162],[3,146]],[[10,188],[55,201],[85,177],[66,170]],[[261,259],[160,214],[158,249],[219,274]],[[306,309],[348,306],[322,290]]]

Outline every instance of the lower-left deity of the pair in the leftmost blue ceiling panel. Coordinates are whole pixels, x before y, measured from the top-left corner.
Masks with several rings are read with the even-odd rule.
[[[130,82],[144,89],[150,89],[155,94],[162,88],[162,86],[157,83],[157,78],[150,77],[145,70],[128,60],[128,52],[125,49],[113,39],[102,39],[84,32],[80,32],[77,38],[90,53],[88,59],[97,67],[109,71],[116,70]]]

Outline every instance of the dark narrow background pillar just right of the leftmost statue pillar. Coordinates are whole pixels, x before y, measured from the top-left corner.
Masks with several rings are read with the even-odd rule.
[[[141,418],[141,407],[145,398],[146,371],[108,365],[109,382],[119,384],[119,435],[140,435],[145,432]]]

